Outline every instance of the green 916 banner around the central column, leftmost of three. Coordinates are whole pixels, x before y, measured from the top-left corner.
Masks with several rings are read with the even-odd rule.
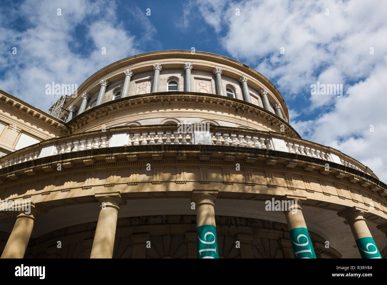
[[[197,228],[197,258],[219,258],[216,226],[203,225]]]

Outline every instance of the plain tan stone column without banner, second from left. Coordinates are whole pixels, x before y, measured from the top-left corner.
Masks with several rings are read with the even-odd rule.
[[[118,210],[120,205],[126,204],[126,201],[120,192],[95,193],[94,196],[101,203],[101,210],[90,258],[112,258]]]

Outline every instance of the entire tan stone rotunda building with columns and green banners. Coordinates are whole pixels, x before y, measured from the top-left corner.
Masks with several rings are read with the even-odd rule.
[[[2,258],[383,258],[387,185],[220,55],[134,55],[53,117],[0,90]]]

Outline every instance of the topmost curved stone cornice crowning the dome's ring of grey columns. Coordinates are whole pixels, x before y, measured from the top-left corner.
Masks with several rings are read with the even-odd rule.
[[[222,68],[224,68],[223,73],[226,73],[227,67],[232,67],[240,71],[239,74],[244,73],[245,76],[249,77],[250,82],[252,82],[253,79],[257,78],[264,85],[261,87],[267,88],[277,98],[277,100],[283,107],[285,116],[289,117],[288,108],[285,104],[284,98],[282,97],[281,93],[279,93],[277,88],[269,81],[269,79],[267,79],[265,76],[260,74],[258,71],[241,62],[238,62],[234,59],[230,59],[228,57],[224,57],[222,55],[211,54],[207,52],[198,52],[198,51],[196,51],[193,54],[191,53],[191,50],[164,50],[164,51],[157,51],[157,52],[147,52],[144,54],[133,55],[131,57],[118,60],[106,67],[103,67],[96,73],[92,74],[92,76],[87,78],[79,86],[77,92],[78,93],[89,92],[92,87],[98,85],[98,82],[102,78],[109,77],[110,75],[113,75],[116,73],[117,74],[122,73],[128,67],[134,68],[133,67],[134,65],[139,64],[141,62],[153,61],[154,63],[154,62],[162,61],[164,59],[183,59],[182,69],[185,61],[192,62],[196,60],[205,60],[209,62],[209,66],[211,66],[212,69],[214,68],[214,66],[216,66],[216,64],[221,65]],[[152,68],[153,68],[152,64],[149,64],[149,71],[151,71]],[[239,77],[240,75],[238,76],[238,78]]]

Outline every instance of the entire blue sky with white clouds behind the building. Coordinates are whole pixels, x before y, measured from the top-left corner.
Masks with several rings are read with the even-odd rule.
[[[116,60],[194,47],[259,71],[303,138],[387,181],[386,10],[382,0],[3,0],[0,88],[47,111],[51,81],[79,86]],[[317,81],[342,84],[343,96],[312,95]]]

